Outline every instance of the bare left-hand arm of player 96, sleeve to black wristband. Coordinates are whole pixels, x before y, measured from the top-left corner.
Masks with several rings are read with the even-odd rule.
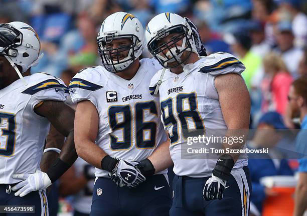
[[[101,167],[101,159],[107,154],[95,140],[98,133],[99,115],[89,100],[78,102],[75,116],[75,144],[78,155],[88,163]]]

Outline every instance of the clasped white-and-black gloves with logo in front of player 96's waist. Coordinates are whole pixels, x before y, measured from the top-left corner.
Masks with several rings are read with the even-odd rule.
[[[146,180],[146,177],[139,171],[137,160],[120,160],[117,166],[112,170],[111,180],[117,186],[127,186],[129,188],[136,187],[139,183]]]

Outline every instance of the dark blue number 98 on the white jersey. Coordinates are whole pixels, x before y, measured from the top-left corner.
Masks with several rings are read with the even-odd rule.
[[[182,134],[185,139],[189,136],[197,136],[205,133],[203,120],[197,110],[197,98],[195,92],[181,93],[176,96],[176,119],[173,98],[161,102],[162,117],[165,127],[170,126],[169,137],[171,144],[179,140],[178,122],[181,123]]]

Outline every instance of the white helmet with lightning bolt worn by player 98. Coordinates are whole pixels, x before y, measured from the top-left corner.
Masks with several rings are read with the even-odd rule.
[[[180,35],[160,46],[157,45],[158,40],[172,32],[180,33]],[[165,68],[184,65],[192,51],[198,54],[191,26],[185,18],[175,13],[160,13],[152,18],[146,26],[145,38],[149,52]],[[183,39],[182,45],[178,46],[176,42],[181,39]],[[164,54],[163,50],[168,50],[168,52]],[[190,54],[185,59],[181,59],[180,57],[184,51],[189,51]],[[177,61],[176,65],[167,66],[167,63],[174,61]]]

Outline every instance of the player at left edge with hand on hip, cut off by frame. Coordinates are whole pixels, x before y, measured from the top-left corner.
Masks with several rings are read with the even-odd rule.
[[[45,189],[77,158],[74,110],[64,102],[68,89],[54,76],[30,75],[41,56],[40,39],[30,25],[0,24],[0,203],[34,205],[33,215],[48,215]],[[40,161],[50,122],[67,139],[60,156],[43,172]],[[48,146],[44,166],[52,162],[46,162],[54,157],[52,151],[61,151],[51,142]]]

